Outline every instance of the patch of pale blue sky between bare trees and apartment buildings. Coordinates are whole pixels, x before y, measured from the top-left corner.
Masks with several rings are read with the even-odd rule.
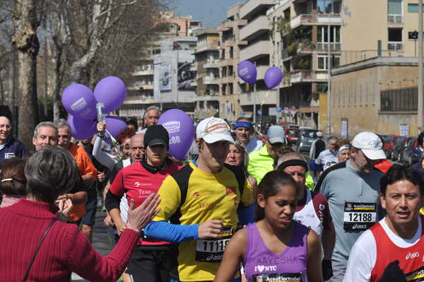
[[[216,27],[227,18],[227,9],[247,0],[175,0],[175,16],[192,16],[204,28]]]

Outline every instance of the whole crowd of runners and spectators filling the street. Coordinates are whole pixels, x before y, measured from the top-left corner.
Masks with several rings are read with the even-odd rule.
[[[32,155],[0,117],[0,281],[424,281],[423,160],[391,165],[372,132],[318,131],[305,157],[246,117],[194,122],[176,160],[160,114],[117,146],[102,122],[86,140],[42,122]],[[103,204],[107,257],[91,247]]]

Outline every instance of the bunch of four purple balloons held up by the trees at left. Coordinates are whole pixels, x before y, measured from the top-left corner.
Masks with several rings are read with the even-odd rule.
[[[115,77],[107,76],[103,78],[94,93],[82,84],[71,84],[66,87],[62,94],[62,104],[66,112],[71,114],[68,118],[72,136],[76,139],[89,139],[97,131],[97,110],[96,104],[102,102],[105,113],[117,110],[126,97],[124,82]],[[106,117],[105,138],[107,143],[112,144],[112,138],[116,137],[122,129],[126,128],[126,123],[119,117]]]

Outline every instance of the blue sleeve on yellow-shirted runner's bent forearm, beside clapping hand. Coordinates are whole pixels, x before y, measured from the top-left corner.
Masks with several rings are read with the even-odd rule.
[[[166,221],[152,221],[144,228],[144,235],[165,242],[178,243],[199,239],[199,224],[177,225]]]

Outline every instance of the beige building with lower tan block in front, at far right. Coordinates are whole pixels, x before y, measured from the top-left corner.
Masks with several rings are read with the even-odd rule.
[[[342,4],[341,66],[331,71],[331,132],[344,134],[347,127],[352,137],[365,130],[401,134],[407,128],[417,135],[417,1]],[[325,130],[326,122],[321,125]]]

